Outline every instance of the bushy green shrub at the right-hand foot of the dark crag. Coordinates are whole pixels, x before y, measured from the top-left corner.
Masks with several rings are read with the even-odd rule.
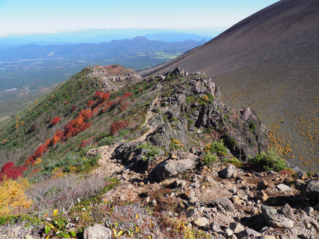
[[[281,159],[274,149],[269,149],[266,153],[260,152],[255,157],[249,157],[248,163],[257,165],[256,171],[276,171],[279,172],[287,168],[285,160]]]

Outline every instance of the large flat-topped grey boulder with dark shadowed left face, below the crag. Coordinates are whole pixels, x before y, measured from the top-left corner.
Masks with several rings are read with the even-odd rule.
[[[160,180],[167,176],[176,175],[186,170],[193,169],[199,162],[199,157],[192,153],[187,153],[184,159],[173,161],[171,159],[159,163],[151,172],[152,181]]]

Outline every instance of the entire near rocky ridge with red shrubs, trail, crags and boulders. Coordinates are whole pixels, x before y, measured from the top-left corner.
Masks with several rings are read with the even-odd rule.
[[[0,239],[319,238],[318,174],[285,162],[258,114],[223,104],[205,73],[94,66],[59,87],[72,112],[59,98],[47,122],[54,91],[34,104],[37,128],[33,108],[16,119],[30,149],[1,170]]]

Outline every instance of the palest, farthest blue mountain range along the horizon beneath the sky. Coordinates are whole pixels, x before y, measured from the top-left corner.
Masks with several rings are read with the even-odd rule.
[[[145,36],[150,40],[166,42],[202,39],[210,40],[224,31],[226,27],[215,27],[207,31],[167,30],[167,29],[85,29],[61,33],[42,33],[10,35],[0,37],[0,49],[17,47],[26,44],[37,45],[76,45],[81,43],[100,44],[111,40],[133,39]]]

